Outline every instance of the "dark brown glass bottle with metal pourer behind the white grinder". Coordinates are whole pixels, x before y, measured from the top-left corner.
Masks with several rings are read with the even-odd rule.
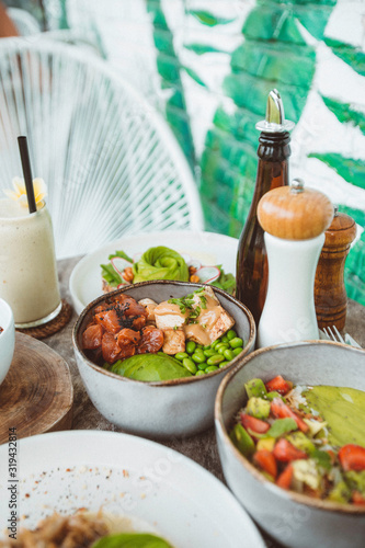
[[[285,121],[283,103],[276,90],[269,94],[266,119],[256,127],[259,165],[253,198],[240,236],[237,254],[237,298],[252,312],[259,324],[267,289],[267,258],[263,229],[258,220],[260,198],[272,189],[288,185],[288,158],[294,124]]]

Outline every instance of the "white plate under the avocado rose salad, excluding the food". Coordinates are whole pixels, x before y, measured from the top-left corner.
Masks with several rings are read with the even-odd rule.
[[[89,302],[102,294],[101,264],[109,262],[107,256],[116,250],[129,256],[142,253],[155,246],[166,246],[191,258],[198,259],[204,265],[221,264],[225,272],[236,276],[238,240],[213,232],[166,231],[140,236],[127,236],[115,240],[84,256],[75,266],[70,276],[70,293],[73,308],[81,313]]]

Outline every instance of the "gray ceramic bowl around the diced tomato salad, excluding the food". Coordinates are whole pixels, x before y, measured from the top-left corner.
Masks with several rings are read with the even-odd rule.
[[[365,391],[365,352],[334,342],[312,341],[253,352],[219,386],[215,425],[228,486],[251,516],[285,546],[363,547],[365,507],[318,501],[267,481],[228,437],[244,404],[244,383],[283,375],[295,385],[331,385]]]

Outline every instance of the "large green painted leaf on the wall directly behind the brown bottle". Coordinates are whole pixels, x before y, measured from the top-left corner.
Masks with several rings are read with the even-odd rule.
[[[224,91],[236,105],[216,112],[202,157],[202,199],[209,230],[239,236],[256,174],[258,132],[267,93],[277,88],[288,119],[298,122],[316,71],[316,49],[300,26],[316,39],[323,32],[335,0],[258,0],[246,19],[244,42],[231,56]]]

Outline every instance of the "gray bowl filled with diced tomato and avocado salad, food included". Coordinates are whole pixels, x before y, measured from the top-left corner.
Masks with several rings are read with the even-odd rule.
[[[269,390],[281,379],[288,392],[272,392],[271,398]],[[260,397],[252,396],[252,386],[262,388]],[[364,422],[357,427],[357,418],[346,408],[363,401],[363,392],[365,352],[328,341],[258,350],[223,379],[215,427],[225,478],[251,517],[282,545],[363,546],[365,499],[360,491],[364,486],[351,482],[365,480]],[[362,399],[356,400],[355,393]],[[311,399],[315,396],[317,400]],[[262,408],[258,415],[256,407],[252,413],[256,400],[265,400],[269,411]],[[296,403],[294,411],[290,401]],[[320,413],[312,401],[321,406]],[[283,426],[283,421],[284,431],[274,434],[275,423]],[[307,432],[303,424],[316,427]],[[346,441],[333,442],[334,433]],[[262,457],[274,466],[270,473]]]

